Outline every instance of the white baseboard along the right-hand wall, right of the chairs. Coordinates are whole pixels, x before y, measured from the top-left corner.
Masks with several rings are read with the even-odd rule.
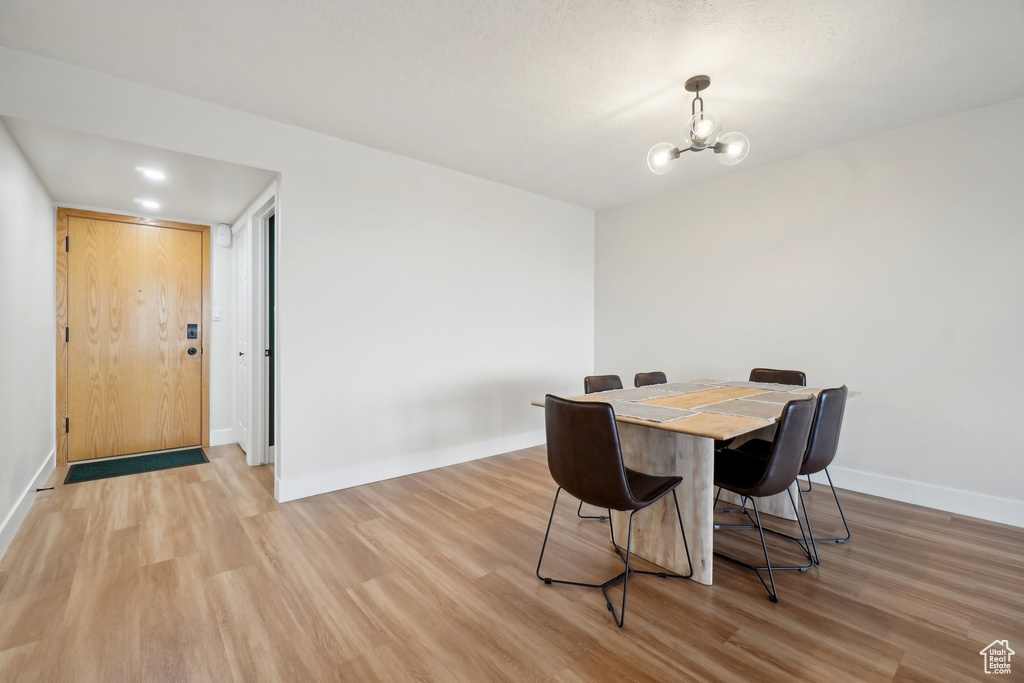
[[[1024,526],[1024,501],[1013,501],[1009,498],[996,498],[969,490],[936,486],[844,467],[829,467],[828,473],[831,474],[833,482],[837,488],[848,488],[861,494],[921,505],[944,512],[953,512],[968,517],[978,517],[1000,524]],[[823,472],[811,476],[811,480],[828,483]]]

